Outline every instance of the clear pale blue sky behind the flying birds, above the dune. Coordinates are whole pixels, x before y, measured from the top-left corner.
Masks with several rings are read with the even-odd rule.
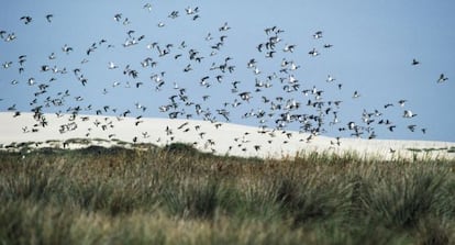
[[[151,3],[151,11],[143,8],[146,3]],[[187,8],[196,7],[198,13],[186,13]],[[19,111],[44,105],[44,112],[66,112],[80,107],[84,114],[102,110],[106,115],[119,115],[130,110],[131,116],[162,118],[176,111],[179,118],[191,114],[192,119],[200,120],[204,116],[198,115],[195,107],[200,104],[206,118],[221,122],[225,119],[217,110],[224,109],[230,112],[230,122],[275,127],[280,114],[289,112],[318,115],[323,121],[320,133],[330,136],[351,136],[352,131],[340,129],[354,122],[362,129],[362,137],[374,132],[377,138],[455,142],[455,33],[451,31],[455,27],[454,10],[455,2],[450,0],[4,1],[0,9],[0,31],[4,31],[4,38],[0,40],[0,110],[7,111],[13,104]],[[169,18],[173,11],[178,11],[175,19]],[[120,21],[114,20],[116,13],[122,14]],[[45,19],[46,14],[53,14],[51,23]],[[200,18],[192,20],[196,14]],[[26,15],[32,18],[29,24],[20,20]],[[129,23],[123,24],[126,18]],[[158,23],[164,26],[159,27]],[[224,23],[230,29],[219,31]],[[271,26],[284,32],[277,34],[280,41],[274,57],[267,58],[267,51],[259,53],[256,47],[275,35],[264,31]],[[134,33],[129,36],[129,31]],[[322,31],[321,38],[313,38],[317,31]],[[7,42],[7,36],[12,33],[16,38]],[[212,40],[206,40],[208,33]],[[144,37],[136,45],[123,47],[126,41],[137,41],[142,35]],[[223,45],[211,55],[215,51],[212,46],[223,35],[226,36]],[[107,43],[99,44],[101,40]],[[184,41],[186,46],[179,47]],[[87,55],[93,43],[97,48]],[[152,43],[162,51],[167,44],[173,46],[168,55],[159,56],[156,47],[147,48]],[[65,44],[73,52],[64,53]],[[333,46],[324,48],[325,44]],[[286,45],[296,45],[295,51],[284,52]],[[309,55],[313,48],[320,55]],[[189,58],[190,49],[198,52],[196,57],[203,57],[200,63]],[[55,59],[48,59],[52,53]],[[180,54],[176,59],[175,56]],[[23,71],[19,73],[21,55],[26,55],[26,62]],[[148,57],[157,63],[155,67],[142,67],[141,62]],[[230,57],[228,66],[235,67],[233,73],[211,69],[212,64],[224,64],[226,57]],[[260,71],[257,75],[247,68],[252,58],[257,62]],[[411,65],[414,58],[419,65]],[[84,59],[88,62],[81,63]],[[282,73],[284,59],[300,67]],[[3,68],[3,64],[10,62],[11,66]],[[109,69],[110,62],[119,68]],[[41,71],[43,65],[59,70],[66,68],[67,73]],[[138,71],[137,78],[123,74],[127,65]],[[185,73],[188,65],[191,70]],[[73,73],[75,68],[80,69],[77,76]],[[437,83],[441,74],[448,79]],[[151,78],[154,75],[159,75],[164,81],[158,91],[159,81]],[[329,75],[335,80],[328,82]],[[78,80],[79,76],[87,79],[86,86]],[[206,76],[209,76],[206,80],[211,85],[209,88],[200,85]],[[222,76],[221,82],[217,76]],[[285,91],[284,86],[291,86],[289,76],[298,80],[299,87]],[[31,78],[33,85],[27,83]],[[49,81],[52,78],[55,80]],[[240,81],[238,91],[232,92],[233,81]],[[256,81],[271,87],[255,91]],[[114,82],[119,86],[113,87]],[[137,82],[140,88],[135,87]],[[126,88],[127,83],[131,88]],[[342,83],[341,89],[339,83]],[[48,87],[35,97],[40,85]],[[176,108],[159,112],[159,107],[171,103],[169,97],[179,94],[174,88],[176,85],[186,89],[188,104],[177,100]],[[302,92],[313,88],[323,91],[319,100],[311,92],[308,96]],[[66,90],[70,96],[63,98],[63,105],[49,103],[45,107],[46,101],[62,99],[59,92]],[[238,96],[245,91],[253,97],[249,101],[243,101]],[[355,91],[360,94],[357,99],[352,98]],[[82,100],[78,101],[76,97]],[[264,102],[263,97],[269,102]],[[284,100],[278,101],[277,97]],[[36,103],[31,105],[34,99]],[[235,100],[242,104],[232,107]],[[323,102],[321,111],[307,105],[309,100]],[[404,107],[398,104],[399,100],[407,100]],[[300,107],[291,111],[270,110],[271,102],[286,107],[288,101],[297,101]],[[333,105],[333,101],[342,101],[340,108]],[[385,108],[388,103],[393,105]],[[104,105],[110,107],[107,112]],[[364,123],[363,112],[374,113],[375,110],[380,115],[370,115],[374,121]],[[404,110],[418,115],[404,119]],[[267,115],[258,118],[262,111]],[[339,121],[335,124],[333,111]],[[245,114],[249,116],[245,118]],[[396,125],[393,132],[388,125],[379,124],[381,120]],[[315,121],[311,123],[311,129],[317,127]],[[415,125],[414,132],[410,125]],[[286,124],[289,130],[301,130],[301,126],[302,122],[298,121]]]

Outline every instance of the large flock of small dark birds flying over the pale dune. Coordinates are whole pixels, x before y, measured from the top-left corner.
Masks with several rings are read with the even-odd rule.
[[[137,11],[141,11],[140,9]],[[143,5],[143,11],[153,12],[151,3]],[[168,13],[170,21],[175,19],[187,18],[189,22],[200,21],[203,14],[199,7],[187,7],[181,10],[174,10]],[[58,16],[46,14],[43,19],[37,16],[20,16],[24,25],[33,25],[35,21],[45,21],[53,24],[58,21]],[[267,26],[263,32],[263,40],[255,47],[255,55],[247,60],[236,60],[235,57],[226,55],[224,51],[229,45],[230,34],[235,27],[230,26],[229,22],[222,22],[217,29],[207,32],[206,36],[200,37],[200,42],[191,45],[186,41],[176,43],[156,42],[148,37],[147,33],[137,33],[133,30],[133,19],[125,16],[123,13],[112,13],[112,24],[121,25],[124,30],[124,41],[108,41],[100,37],[88,45],[86,49],[75,48],[69,44],[63,44],[59,51],[49,52],[38,68],[27,67],[27,54],[20,55],[18,60],[3,60],[1,67],[5,70],[18,69],[18,79],[10,81],[11,86],[18,86],[26,82],[33,88],[33,96],[29,98],[30,110],[34,113],[36,123],[23,129],[23,133],[37,133],[41,127],[46,127],[48,121],[45,113],[55,111],[58,116],[70,114],[67,124],[59,125],[58,130],[62,134],[74,131],[78,126],[76,119],[88,121],[87,115],[116,115],[118,120],[126,116],[135,118],[132,126],[137,126],[143,122],[143,118],[149,111],[159,112],[169,119],[198,119],[210,121],[214,125],[220,126],[223,122],[237,122],[249,120],[256,122],[262,130],[280,131],[287,133],[289,125],[297,125],[300,133],[306,133],[307,142],[320,134],[328,132],[328,129],[335,129],[340,135],[351,135],[363,138],[377,137],[378,127],[385,127],[387,131],[393,132],[398,125],[386,116],[389,110],[398,108],[401,116],[408,119],[409,123],[404,125],[411,132],[426,132],[425,127],[413,123],[412,118],[418,116],[412,110],[407,108],[407,100],[402,99],[393,102],[385,102],[382,108],[366,110],[360,114],[354,115],[352,121],[341,120],[342,107],[344,100],[357,100],[362,98],[359,91],[348,91],[347,98],[330,99],[325,97],[326,91],[321,89],[319,85],[308,85],[299,78],[299,70],[303,69],[299,60],[295,60],[292,54],[300,48],[301,44],[286,43],[282,37],[285,30],[278,26]],[[169,23],[168,22],[168,23]],[[159,21],[156,29],[166,29],[166,21]],[[179,34],[176,33],[176,36]],[[14,32],[0,30],[0,38],[3,42],[11,43],[18,38]],[[176,37],[177,38],[177,37]],[[306,53],[309,58],[317,58],[325,52],[334,48],[334,45],[324,43],[324,32],[315,31],[309,38],[314,40],[317,47],[309,48]],[[66,42],[70,42],[69,40]],[[141,60],[110,60],[102,65],[103,70],[99,73],[116,73],[119,76],[114,81],[97,81],[104,82],[104,88],[97,98],[88,98],[84,96],[74,96],[85,91],[92,90],[92,80],[90,75],[85,73],[89,67],[93,56],[97,56],[99,49],[109,52],[125,49],[141,49],[145,54]],[[84,55],[82,60],[75,67],[62,66],[58,63],[60,55],[71,56],[74,53]],[[0,57],[1,58],[1,57]],[[173,65],[166,65],[166,64]],[[53,64],[53,65],[48,65]],[[165,64],[165,65],[163,65]],[[184,65],[181,65],[184,64]],[[271,64],[271,65],[269,65]],[[410,66],[419,66],[420,62],[413,59]],[[275,67],[271,68],[270,67]],[[35,76],[26,77],[27,69],[32,73],[37,71],[45,79],[37,79]],[[236,71],[245,69],[249,73],[249,77],[237,78]],[[204,75],[192,79],[196,73],[204,71]],[[189,78],[188,81],[173,81],[171,74],[182,73]],[[30,73],[29,73],[30,74]],[[169,75],[170,74],[170,75]],[[70,78],[68,78],[70,77]],[[77,91],[70,91],[68,88],[62,89],[62,86],[55,86],[58,82],[67,82],[63,80],[73,80],[78,83]],[[436,77],[437,83],[447,81],[446,75],[441,74]],[[1,81],[5,82],[5,81]],[[325,87],[331,92],[340,92],[344,94],[343,83],[332,76],[328,75]],[[185,85],[185,86],[182,86]],[[54,89],[54,87],[57,88]],[[228,101],[221,101],[220,98],[213,96],[212,89],[223,90]],[[147,91],[152,97],[156,94],[167,93],[167,99],[154,100],[141,103],[133,102],[131,108],[114,108],[110,104],[92,105],[90,101],[103,100],[109,97],[112,90],[131,89]],[[189,92],[189,91],[196,92]],[[7,96],[5,93],[2,93]],[[111,99],[115,99],[112,96]],[[21,98],[22,99],[22,98]],[[121,98],[122,99],[122,98]],[[89,101],[87,103],[87,101]],[[255,102],[255,103],[254,103]],[[16,103],[4,104],[5,99],[0,98],[2,110],[14,112],[14,116],[21,115],[21,110],[16,108]],[[129,103],[125,101],[124,103]],[[253,104],[260,104],[254,107]],[[238,114],[240,116],[232,116]],[[232,120],[235,118],[235,120]],[[112,130],[115,127],[114,121],[106,120],[97,121],[93,129],[107,131],[109,137],[114,137]],[[90,130],[93,130],[90,129]],[[170,133],[168,127],[164,129]],[[188,130],[188,129],[187,129]],[[114,131],[114,130],[113,130]],[[201,132],[203,133],[203,132]],[[141,132],[138,135],[132,135],[133,142],[145,141],[153,132]],[[86,136],[90,136],[87,132]],[[337,137],[340,145],[340,137]],[[254,147],[258,151],[259,147]]]

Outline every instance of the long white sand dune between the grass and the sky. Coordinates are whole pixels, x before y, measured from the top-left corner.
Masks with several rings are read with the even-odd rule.
[[[57,116],[45,114],[47,125],[35,125],[38,122],[33,113],[0,113],[0,146],[9,148],[18,143],[42,143],[42,146],[64,147],[70,138],[88,138],[91,144],[112,146],[119,142],[152,143],[159,146],[181,142],[192,144],[204,152],[219,155],[243,157],[282,158],[297,154],[328,152],[344,154],[357,153],[362,157],[443,157],[454,158],[455,143],[428,141],[385,141],[336,138],[315,136],[308,141],[310,134],[293,131],[274,131],[231,123],[212,123],[195,120],[115,118],[101,115]],[[136,122],[140,122],[136,125]],[[34,126],[35,125],[35,126]],[[37,130],[37,132],[33,132]],[[60,132],[62,130],[62,132]],[[32,144],[34,145],[34,144]],[[65,145],[66,146],[66,145]],[[67,147],[81,147],[81,144],[69,143]],[[391,151],[392,149],[392,151]],[[412,149],[412,151],[410,151]],[[452,149],[452,151],[450,151]]]

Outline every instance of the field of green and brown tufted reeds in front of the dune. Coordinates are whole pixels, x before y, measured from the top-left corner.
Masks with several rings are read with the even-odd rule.
[[[455,244],[455,160],[0,152],[0,244]]]

